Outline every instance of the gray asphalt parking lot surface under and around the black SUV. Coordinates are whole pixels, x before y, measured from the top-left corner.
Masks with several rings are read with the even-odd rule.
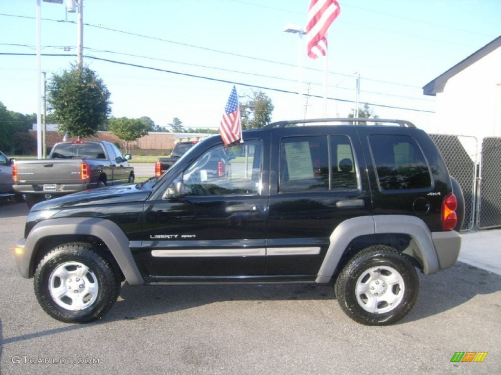
[[[308,285],[125,284],[103,319],[59,322],[15,267],[27,213],[0,202],[2,374],[501,373],[501,276],[460,262],[420,276],[416,305],[386,327],[352,321],[331,288]],[[450,362],[457,351],[488,354]]]

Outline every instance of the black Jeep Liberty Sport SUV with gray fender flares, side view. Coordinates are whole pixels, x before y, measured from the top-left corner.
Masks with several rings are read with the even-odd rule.
[[[462,194],[424,131],[367,121],[276,122],[227,147],[215,135],[159,179],[36,204],[18,269],[66,322],[102,317],[127,280],[332,284],[354,320],[393,323],[416,301],[415,268],[456,262]],[[232,155],[223,178],[217,153]]]

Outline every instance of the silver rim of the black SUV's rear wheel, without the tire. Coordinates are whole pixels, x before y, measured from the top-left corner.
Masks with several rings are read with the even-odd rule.
[[[402,275],[393,267],[376,266],[364,271],[357,280],[355,293],[366,311],[381,314],[396,308],[405,294]]]

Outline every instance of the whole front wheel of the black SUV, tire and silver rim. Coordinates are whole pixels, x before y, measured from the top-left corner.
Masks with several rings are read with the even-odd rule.
[[[120,292],[118,277],[113,264],[89,243],[67,243],[54,248],[38,264],[35,294],[55,319],[87,323],[113,306]]]

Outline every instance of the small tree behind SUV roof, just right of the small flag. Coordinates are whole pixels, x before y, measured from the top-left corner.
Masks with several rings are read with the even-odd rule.
[[[272,120],[273,103],[263,91],[250,90],[244,97],[247,101],[240,103],[242,129],[257,129],[268,125]]]

